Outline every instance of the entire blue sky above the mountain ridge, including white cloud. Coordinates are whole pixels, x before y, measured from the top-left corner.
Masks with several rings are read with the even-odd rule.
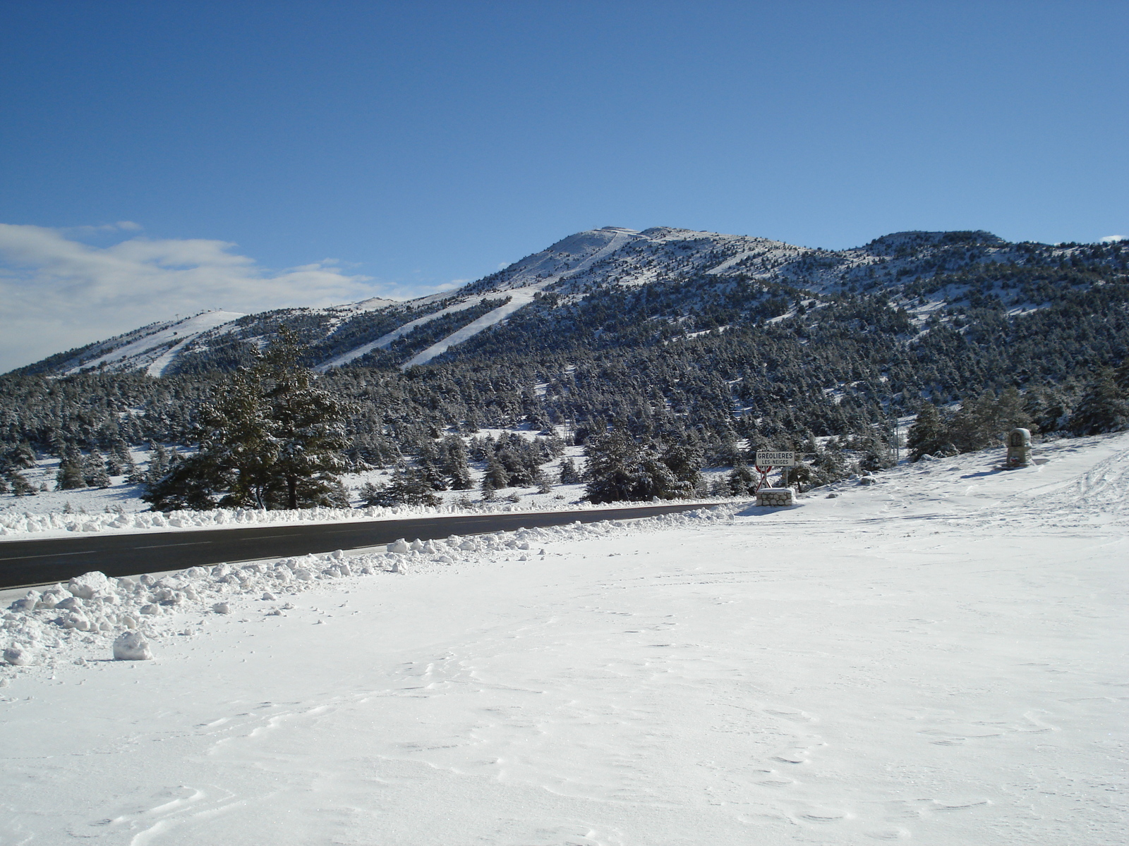
[[[0,370],[601,226],[1129,235],[1124,2],[0,11]]]

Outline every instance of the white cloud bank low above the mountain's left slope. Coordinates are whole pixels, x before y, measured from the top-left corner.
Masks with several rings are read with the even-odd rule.
[[[226,241],[133,237],[95,247],[68,237],[138,229],[130,221],[68,230],[0,223],[0,372],[175,314],[388,296],[334,259],[271,271]]]

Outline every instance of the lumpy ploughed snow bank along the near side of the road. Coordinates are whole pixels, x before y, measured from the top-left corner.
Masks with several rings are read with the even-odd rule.
[[[603,520],[492,535],[452,535],[445,540],[408,541],[402,538],[388,544],[384,553],[350,555],[338,549],[299,558],[190,567],[159,576],[115,579],[98,572],[85,573],[67,584],[29,590],[12,602],[0,622],[0,644],[5,649],[8,671],[33,664],[50,667],[60,660],[103,658],[111,649],[119,660],[151,658],[148,641],[196,633],[191,625],[185,625],[186,617],[208,614],[282,616],[286,606],[278,605],[277,600],[323,587],[326,582],[439,569],[455,563],[489,563],[506,555],[530,561],[544,555],[543,547],[548,544],[638,531],[640,523],[666,528],[693,521],[728,520],[737,508],[735,504],[710,506],[632,520],[630,529],[623,521]],[[129,633],[137,636],[124,637]],[[129,658],[130,654],[137,656]]]

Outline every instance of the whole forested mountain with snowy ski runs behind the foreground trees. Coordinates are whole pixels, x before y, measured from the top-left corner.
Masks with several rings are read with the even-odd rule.
[[[1127,263],[1124,241],[983,231],[834,252],[610,227],[450,293],[207,312],[61,353],[0,377],[0,446],[187,443],[200,403],[282,325],[352,402],[349,458],[376,466],[445,431],[557,426],[583,443],[612,421],[727,466],[758,444],[889,442],[890,421],[926,400],[1008,389],[1052,432],[1129,353]]]

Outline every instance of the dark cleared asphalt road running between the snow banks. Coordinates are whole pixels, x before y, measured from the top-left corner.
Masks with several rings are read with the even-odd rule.
[[[399,538],[434,540],[450,535],[484,535],[520,528],[631,520],[702,505],[646,505],[598,511],[421,517],[320,526],[256,526],[250,529],[152,531],[89,535],[45,540],[0,541],[0,589],[64,582],[100,570],[106,575],[139,575],[220,562],[286,558],[334,549],[359,549]]]

